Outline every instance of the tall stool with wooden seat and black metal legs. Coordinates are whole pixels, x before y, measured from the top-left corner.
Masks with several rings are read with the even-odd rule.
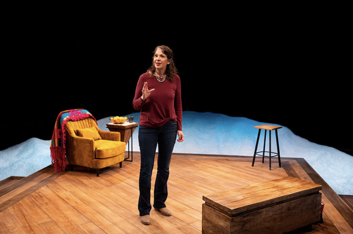
[[[264,163],[264,158],[265,157],[269,157],[270,158],[270,170],[271,170],[271,157],[276,157],[278,156],[278,163],[281,166],[281,157],[280,157],[280,146],[278,144],[278,134],[277,134],[277,129],[282,128],[281,126],[273,126],[273,125],[259,125],[259,126],[255,126],[254,128],[258,128],[259,129],[259,133],[257,134],[257,141],[256,141],[256,146],[255,146],[255,152],[254,152],[254,157],[252,159],[252,165],[254,166],[255,163],[255,156],[259,155],[262,156],[262,163]],[[260,133],[261,133],[261,129],[265,129],[265,137],[264,137],[264,149],[263,151],[257,151],[257,145],[259,143],[259,138],[260,138]],[[265,151],[265,145],[266,145],[266,131],[269,130],[270,131],[270,150],[269,151]],[[271,131],[275,130],[276,132],[276,143],[277,143],[277,153],[275,152],[271,152]],[[269,153],[269,156],[265,155],[266,153]],[[262,155],[260,154],[262,153]],[[271,155],[271,153],[274,153],[274,155]]]

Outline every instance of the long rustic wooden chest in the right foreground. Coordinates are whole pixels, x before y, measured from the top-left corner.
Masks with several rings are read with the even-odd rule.
[[[203,196],[202,233],[285,233],[320,221],[321,185],[293,177]]]

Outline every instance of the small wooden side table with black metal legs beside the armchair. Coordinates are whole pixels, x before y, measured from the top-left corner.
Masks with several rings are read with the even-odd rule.
[[[120,132],[120,141],[124,141],[127,144],[127,155],[125,161],[132,162],[132,133],[138,126],[138,123],[124,123],[124,124],[106,124],[110,132]],[[129,130],[130,129],[130,130]],[[130,159],[130,138],[131,138],[131,160]]]

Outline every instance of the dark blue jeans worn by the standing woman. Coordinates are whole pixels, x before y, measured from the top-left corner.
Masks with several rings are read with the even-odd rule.
[[[177,121],[169,120],[162,127],[151,128],[139,126],[138,142],[141,152],[141,167],[139,178],[140,197],[138,210],[140,216],[149,215],[151,210],[151,176],[158,143],[157,177],[154,188],[153,207],[161,209],[166,207],[169,177],[169,164],[177,139]]]

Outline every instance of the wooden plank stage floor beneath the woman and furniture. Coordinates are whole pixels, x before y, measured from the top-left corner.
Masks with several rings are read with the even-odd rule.
[[[310,233],[353,233],[352,209],[304,159],[281,158],[282,167],[273,159],[271,171],[261,158],[254,167],[251,160],[173,154],[166,202],[173,215],[167,217],[151,210],[149,226],[140,223],[138,216],[138,153],[134,153],[133,162],[123,162],[122,168],[110,166],[100,177],[94,170],[76,167],[75,171],[54,172],[49,166],[16,183],[1,185],[0,233],[200,234],[203,195],[286,176],[323,187],[324,223],[313,225]],[[151,201],[156,169],[155,164]]]

